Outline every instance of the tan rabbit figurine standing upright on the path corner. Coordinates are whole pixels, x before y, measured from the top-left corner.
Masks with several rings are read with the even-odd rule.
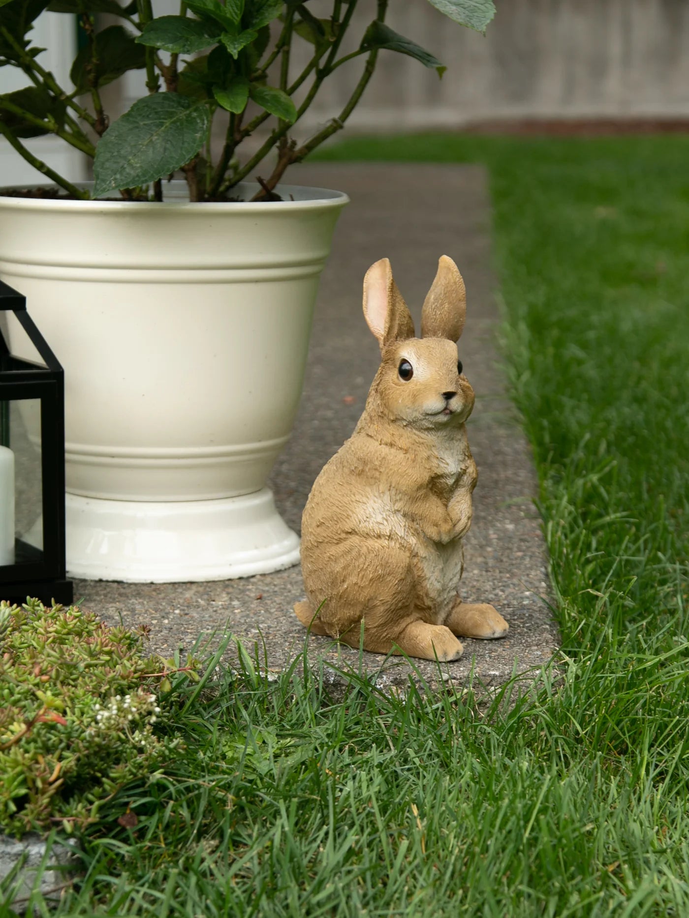
[[[424,301],[421,338],[387,258],[364,278],[364,316],[381,361],[356,430],[322,468],[302,518],[308,600],[294,607],[315,634],[378,654],[456,660],[457,635],[503,637],[492,606],[462,602],[462,540],[477,471],[465,421],[474,392],[457,361],[464,281],[443,255]]]

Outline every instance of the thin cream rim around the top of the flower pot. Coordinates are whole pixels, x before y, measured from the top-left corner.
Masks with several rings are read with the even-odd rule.
[[[75,187],[84,188],[90,191],[93,182],[75,182]],[[55,188],[54,183],[43,183],[42,185],[29,185],[32,188]],[[172,186],[173,199],[166,201],[107,201],[99,198],[87,201],[73,200],[70,198],[53,198],[53,197],[15,197],[4,195],[5,191],[20,190],[27,188],[26,184],[22,185],[4,185],[0,187],[0,207],[28,209],[28,210],[52,210],[52,211],[80,211],[84,210],[89,213],[99,211],[101,213],[128,213],[133,211],[151,211],[153,208],[164,207],[167,210],[184,211],[185,213],[214,213],[237,211],[249,211],[252,214],[257,213],[276,213],[276,206],[280,210],[288,210],[291,213],[311,210],[314,207],[344,207],[349,203],[349,196],[344,191],[333,191],[330,188],[317,188],[311,185],[277,185],[277,194],[283,196],[292,195],[294,200],[283,201],[187,201],[184,199],[184,189],[186,182],[175,180],[166,187]],[[253,194],[259,189],[259,185],[254,182],[240,182],[235,186],[237,189],[245,189]],[[180,194],[182,192],[182,194]],[[176,199],[175,199],[176,197]]]

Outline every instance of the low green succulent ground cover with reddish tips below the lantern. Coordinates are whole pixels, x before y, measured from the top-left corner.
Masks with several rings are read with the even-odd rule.
[[[197,668],[145,655],[143,637],[77,607],[0,603],[0,831],[78,833],[175,757],[153,724]]]

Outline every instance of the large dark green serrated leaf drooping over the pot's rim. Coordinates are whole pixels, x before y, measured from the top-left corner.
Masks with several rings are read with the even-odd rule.
[[[153,93],[111,124],[96,147],[94,196],[146,185],[193,159],[210,124],[209,106],[178,93]]]

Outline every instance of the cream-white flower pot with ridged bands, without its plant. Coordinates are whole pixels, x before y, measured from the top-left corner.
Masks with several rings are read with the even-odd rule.
[[[223,579],[299,560],[265,480],[348,198],[278,191],[281,203],[0,196],[0,278],[65,370],[74,577]]]

